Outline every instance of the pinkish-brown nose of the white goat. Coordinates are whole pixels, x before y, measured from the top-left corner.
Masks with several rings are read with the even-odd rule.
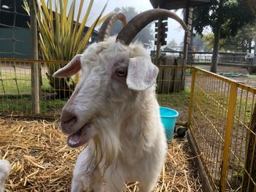
[[[65,134],[72,132],[72,127],[77,122],[78,118],[74,112],[62,110],[61,112],[61,129]]]

